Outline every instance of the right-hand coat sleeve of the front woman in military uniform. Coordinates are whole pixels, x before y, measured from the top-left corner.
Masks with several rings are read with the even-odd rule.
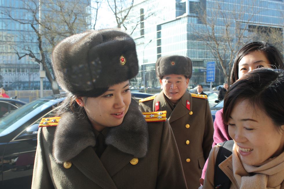
[[[156,188],[187,188],[181,158],[168,119],[163,126]]]

